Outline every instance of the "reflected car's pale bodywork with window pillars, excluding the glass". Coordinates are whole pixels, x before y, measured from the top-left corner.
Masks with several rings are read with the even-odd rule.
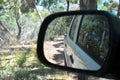
[[[65,37],[65,60],[66,64],[69,67],[85,69],[85,70],[99,70],[101,66],[95,62],[90,56],[88,56],[76,43],[78,38],[79,28],[81,27],[82,19],[78,20],[79,22],[76,25],[74,38],[73,40],[70,37],[70,32],[72,25]],[[73,20],[71,24],[73,24]],[[87,61],[87,62],[86,62]]]

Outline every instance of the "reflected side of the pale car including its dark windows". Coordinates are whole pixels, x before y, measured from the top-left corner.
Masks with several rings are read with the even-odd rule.
[[[105,23],[105,26],[99,27],[97,24],[104,25],[104,21],[99,21],[95,17],[99,16],[84,15],[82,17],[74,17],[67,38],[65,39],[67,66],[85,70],[100,69],[100,65],[102,65],[103,62],[102,60],[105,58],[103,53],[108,51],[108,45],[105,43],[105,45],[102,45],[102,40],[104,39],[104,42],[107,42],[109,38],[107,34],[109,31],[105,31],[107,29],[105,26],[108,26],[107,23]],[[92,32],[94,28],[98,28],[98,31]],[[98,37],[97,35],[104,37],[102,39],[102,36]],[[101,45],[103,47],[106,46],[106,50],[102,49],[101,51]],[[100,53],[100,55],[96,53]]]

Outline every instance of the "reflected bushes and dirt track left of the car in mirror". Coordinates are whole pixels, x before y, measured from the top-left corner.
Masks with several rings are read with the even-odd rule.
[[[72,17],[56,18],[48,26],[44,41],[44,54],[53,64],[65,66],[64,35],[67,33]]]

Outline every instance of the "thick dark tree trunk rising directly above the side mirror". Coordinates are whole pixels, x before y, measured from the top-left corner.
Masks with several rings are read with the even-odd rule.
[[[97,0],[80,0],[80,10],[97,10]]]

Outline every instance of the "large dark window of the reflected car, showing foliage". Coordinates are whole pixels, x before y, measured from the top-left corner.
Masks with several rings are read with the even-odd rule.
[[[108,20],[104,16],[87,15],[83,19],[78,43],[95,60],[104,60],[108,53],[108,26]]]

